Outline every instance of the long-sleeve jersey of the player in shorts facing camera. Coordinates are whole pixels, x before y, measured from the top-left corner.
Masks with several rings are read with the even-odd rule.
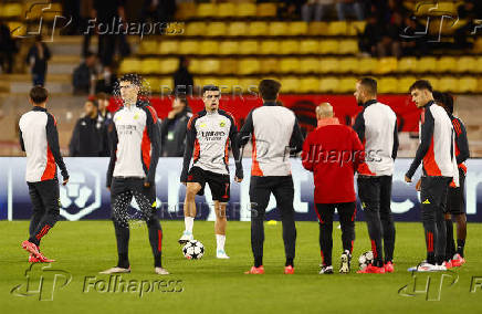
[[[192,166],[221,175],[229,175],[229,144],[235,164],[235,176],[243,177],[238,127],[233,116],[224,111],[208,113],[206,109],[195,114],[188,122],[186,149],[182,164],[181,182],[187,181],[188,169]]]

